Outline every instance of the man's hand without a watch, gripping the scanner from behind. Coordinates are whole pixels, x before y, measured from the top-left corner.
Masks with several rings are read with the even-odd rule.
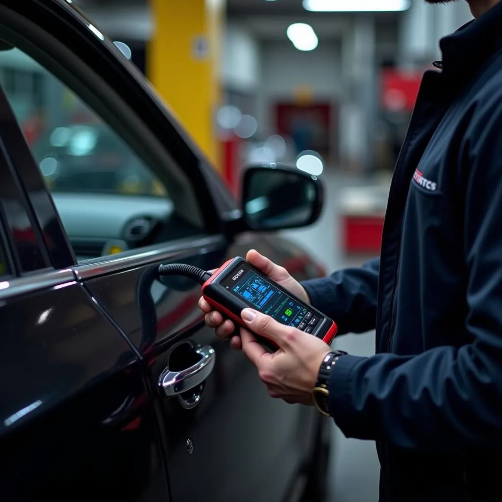
[[[303,300],[305,303],[310,303],[310,298],[303,286],[294,279],[290,273],[279,265],[275,264],[268,258],[260,255],[255,249],[250,249],[247,252],[246,260],[254,265],[257,269],[261,270],[265,275],[279,283],[283,288],[291,291],[295,296]],[[220,312],[213,310],[213,307],[200,297],[199,307],[206,314],[205,322],[210,328],[216,329],[216,336],[223,340],[229,338],[235,332],[235,324],[229,319],[224,319]],[[232,348],[239,349],[242,344],[240,336],[234,335],[230,339]]]

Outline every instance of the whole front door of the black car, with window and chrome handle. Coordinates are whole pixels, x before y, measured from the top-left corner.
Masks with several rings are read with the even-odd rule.
[[[229,241],[196,148],[95,27],[68,4],[30,5],[20,16],[12,4],[0,32],[47,91],[38,101],[46,134],[30,145],[35,163],[26,149],[22,181],[48,189],[78,282],[148,368],[172,499],[282,500],[313,446],[314,412],[270,399],[255,368],[204,327],[200,286],[156,274],[173,262],[212,269],[251,245],[274,258],[274,246]],[[25,123],[35,108],[7,91]],[[35,210],[43,225],[47,207]],[[199,395],[160,389],[166,370],[205,355],[214,364]]]

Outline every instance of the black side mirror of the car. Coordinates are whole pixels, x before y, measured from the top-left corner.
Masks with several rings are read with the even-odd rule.
[[[251,230],[298,228],[314,223],[323,206],[323,185],[296,167],[250,166],[242,180],[242,219]]]

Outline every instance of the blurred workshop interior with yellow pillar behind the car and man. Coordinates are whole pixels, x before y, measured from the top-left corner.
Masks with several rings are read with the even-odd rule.
[[[421,75],[441,57],[438,40],[471,19],[464,2],[421,0],[74,3],[147,76],[233,191],[249,162],[296,164],[324,179],[321,219],[285,233],[328,271],[379,253]],[[82,120],[86,109],[56,80],[43,85],[33,60],[0,56],[0,82],[30,143],[51,124]],[[336,343],[371,354],[374,333]],[[330,472],[333,500],[378,499],[372,442],[333,426]]]

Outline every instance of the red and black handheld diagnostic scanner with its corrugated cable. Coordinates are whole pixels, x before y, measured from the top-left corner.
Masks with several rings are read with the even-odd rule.
[[[240,312],[250,307],[328,344],[338,329],[332,319],[294,296],[241,257],[228,260],[212,274],[191,265],[169,264],[159,267],[159,275],[181,275],[194,279],[202,285],[204,299],[239,326],[245,327]],[[277,349],[271,340],[260,338],[269,348]]]

